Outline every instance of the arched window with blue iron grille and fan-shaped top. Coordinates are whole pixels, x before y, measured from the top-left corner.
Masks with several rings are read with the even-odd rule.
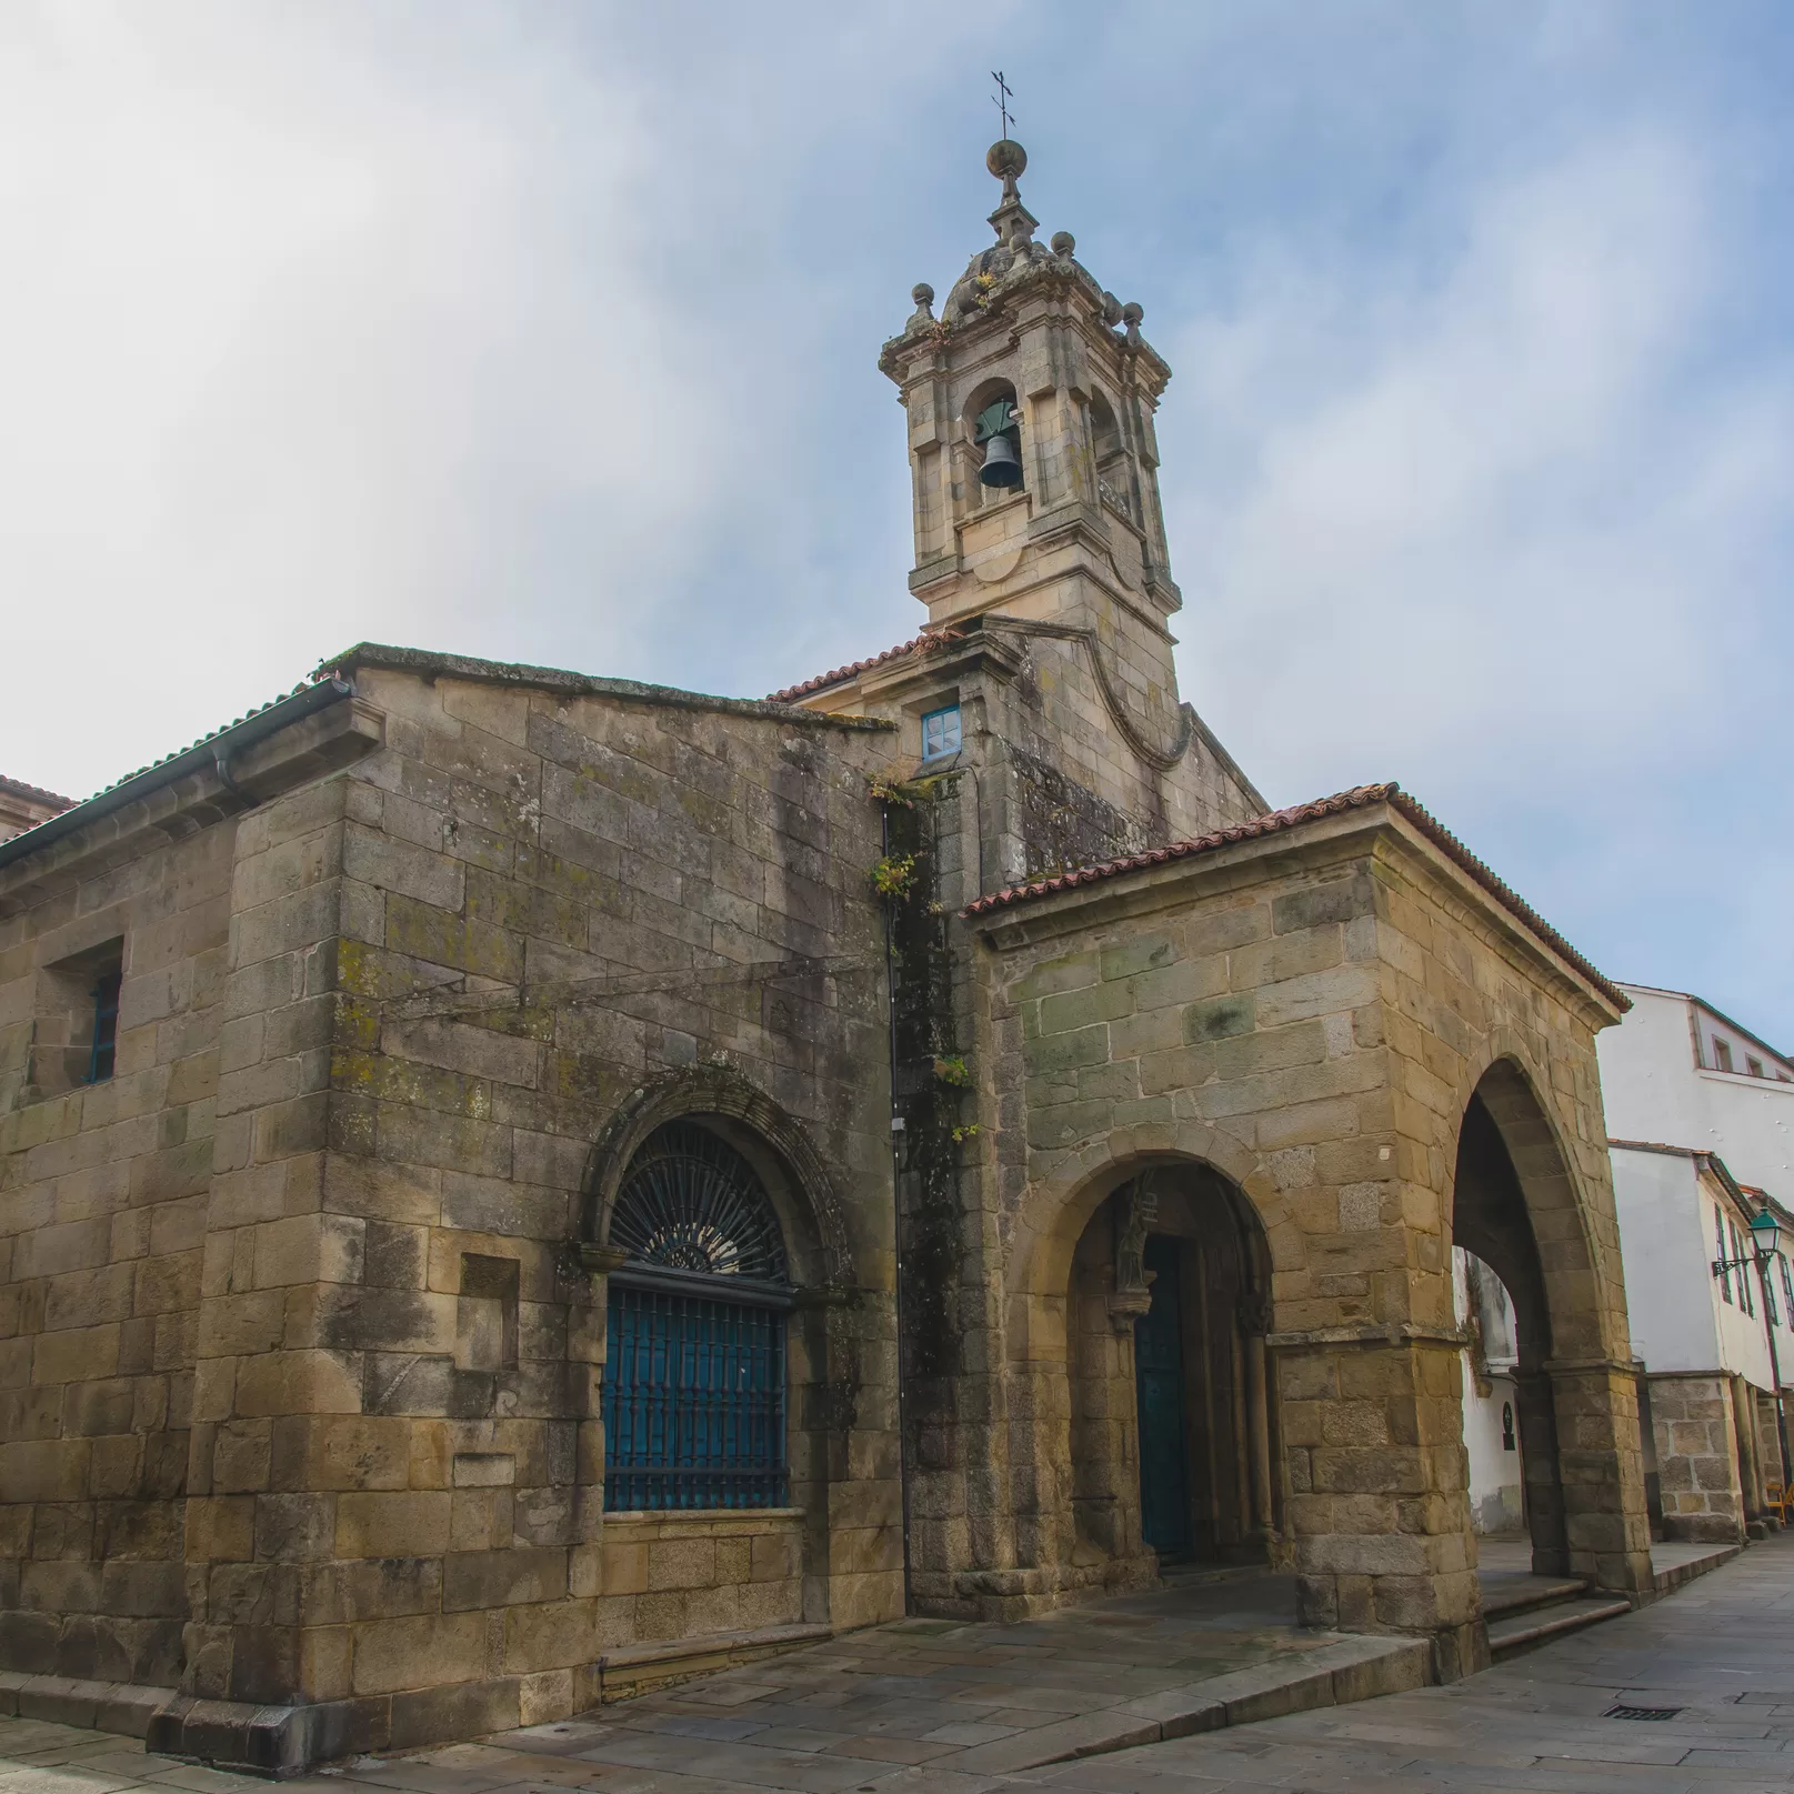
[[[624,1173],[610,1245],[605,1507],[786,1500],[784,1240],[753,1166],[667,1121]]]

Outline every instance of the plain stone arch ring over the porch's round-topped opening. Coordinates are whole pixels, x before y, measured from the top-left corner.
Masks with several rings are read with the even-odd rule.
[[[1301,1236],[1258,1154],[1200,1121],[1175,1121],[1102,1134],[1030,1186],[1015,1216],[1008,1293],[1062,1295],[1078,1238],[1109,1193],[1134,1171],[1171,1159],[1202,1161],[1245,1195],[1265,1232],[1272,1272],[1301,1261]]]

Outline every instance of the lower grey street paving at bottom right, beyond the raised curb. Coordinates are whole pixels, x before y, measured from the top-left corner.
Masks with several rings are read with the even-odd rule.
[[[1616,1706],[1676,1711],[1607,1717]],[[1450,1688],[1039,1769],[1010,1781],[1017,1794],[1021,1781],[1042,1794],[1789,1794],[1794,1536]]]

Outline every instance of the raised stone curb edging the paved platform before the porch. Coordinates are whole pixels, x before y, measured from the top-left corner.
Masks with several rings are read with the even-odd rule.
[[[1139,1701],[1123,1701],[1100,1713],[1035,1726],[1014,1738],[976,1744],[931,1767],[956,1774],[1014,1774],[1073,1756],[1102,1756],[1136,1744],[1163,1744],[1166,1738],[1247,1726],[1315,1706],[1347,1706],[1380,1694],[1423,1688],[1432,1679],[1432,1645],[1424,1638],[1337,1638],[1304,1650],[1295,1661],[1283,1658],[1259,1663]]]

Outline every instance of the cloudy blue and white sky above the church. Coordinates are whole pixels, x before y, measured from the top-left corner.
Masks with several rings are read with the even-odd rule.
[[[1785,0],[9,0],[0,771],[388,640],[759,696],[904,640],[877,350],[1041,235],[1175,370],[1179,676],[1794,1046]]]

